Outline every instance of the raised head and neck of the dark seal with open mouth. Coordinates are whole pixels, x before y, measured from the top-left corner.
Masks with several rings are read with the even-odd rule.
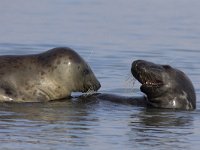
[[[196,95],[192,82],[182,71],[169,65],[136,60],[131,72],[142,84],[148,105],[157,108],[191,110],[196,108]]]

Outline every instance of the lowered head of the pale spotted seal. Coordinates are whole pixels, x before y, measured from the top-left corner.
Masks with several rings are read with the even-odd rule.
[[[39,54],[38,60],[72,92],[97,91],[101,87],[90,66],[70,48],[54,48]]]

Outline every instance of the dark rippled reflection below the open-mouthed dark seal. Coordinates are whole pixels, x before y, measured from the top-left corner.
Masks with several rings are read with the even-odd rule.
[[[187,137],[193,134],[193,116],[188,111],[146,109],[131,115],[129,126],[130,142],[138,147],[190,148]]]

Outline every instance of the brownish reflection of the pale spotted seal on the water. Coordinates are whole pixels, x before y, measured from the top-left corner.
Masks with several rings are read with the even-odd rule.
[[[79,121],[78,117],[82,118],[89,115],[89,103],[89,101],[84,103],[78,99],[50,103],[4,103],[0,105],[2,114],[4,113],[4,115],[0,116],[0,119],[23,118],[50,123],[56,121]]]

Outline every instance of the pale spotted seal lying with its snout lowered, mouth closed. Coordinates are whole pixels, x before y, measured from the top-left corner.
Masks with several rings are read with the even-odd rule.
[[[70,48],[41,54],[0,56],[0,101],[41,102],[97,91],[89,65]]]

